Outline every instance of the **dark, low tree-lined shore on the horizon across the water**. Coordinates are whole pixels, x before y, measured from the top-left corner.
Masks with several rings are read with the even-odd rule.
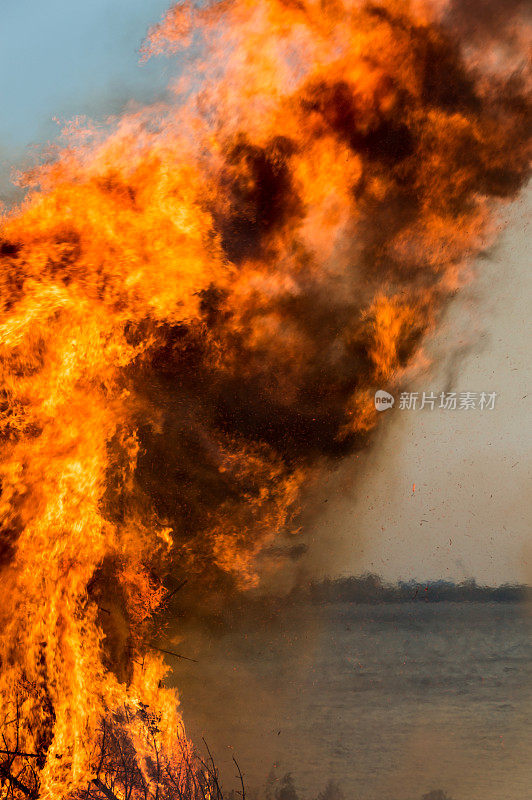
[[[524,584],[482,586],[474,579],[453,581],[398,581],[387,583],[378,575],[324,578],[298,586],[290,593],[294,602],[332,603],[522,603],[532,598],[532,589]]]

